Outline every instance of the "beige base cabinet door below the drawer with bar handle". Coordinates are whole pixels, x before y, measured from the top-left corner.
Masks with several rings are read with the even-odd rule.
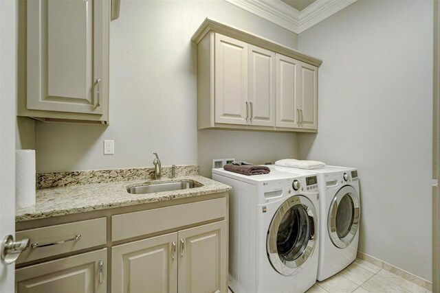
[[[38,248],[37,248],[38,249]],[[17,269],[16,292],[107,292],[107,248]]]

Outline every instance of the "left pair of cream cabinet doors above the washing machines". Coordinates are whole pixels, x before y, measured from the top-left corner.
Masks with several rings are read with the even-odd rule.
[[[215,34],[215,122],[275,125],[275,54]]]

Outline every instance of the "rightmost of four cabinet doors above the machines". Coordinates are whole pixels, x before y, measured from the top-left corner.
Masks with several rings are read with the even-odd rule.
[[[300,62],[300,127],[318,129],[318,67]]]

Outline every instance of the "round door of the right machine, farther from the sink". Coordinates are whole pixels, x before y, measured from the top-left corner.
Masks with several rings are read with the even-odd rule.
[[[358,232],[359,219],[358,193],[346,185],[336,193],[330,204],[328,228],[331,242],[339,248],[349,246]]]

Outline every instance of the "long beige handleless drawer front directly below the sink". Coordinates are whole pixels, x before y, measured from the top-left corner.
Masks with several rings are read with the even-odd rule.
[[[225,216],[226,198],[113,215],[111,217],[111,240],[118,241],[166,231],[199,222],[225,218]]]

